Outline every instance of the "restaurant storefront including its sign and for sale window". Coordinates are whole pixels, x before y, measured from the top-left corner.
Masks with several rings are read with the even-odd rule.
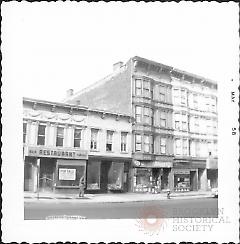
[[[46,147],[26,147],[24,190],[77,193],[86,174],[87,152]]]

